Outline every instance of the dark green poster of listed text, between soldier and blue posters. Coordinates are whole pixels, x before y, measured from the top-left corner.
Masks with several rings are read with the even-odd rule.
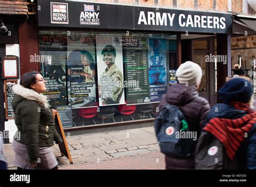
[[[149,103],[147,38],[123,37],[122,46],[127,104]]]

